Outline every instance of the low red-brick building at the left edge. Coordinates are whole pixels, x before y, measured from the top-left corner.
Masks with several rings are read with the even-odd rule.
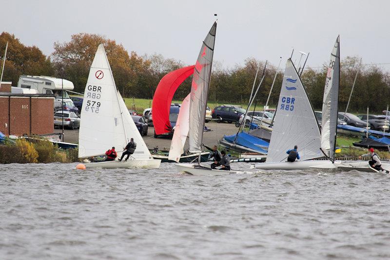
[[[53,108],[50,94],[0,93],[0,131],[5,135],[53,133]]]

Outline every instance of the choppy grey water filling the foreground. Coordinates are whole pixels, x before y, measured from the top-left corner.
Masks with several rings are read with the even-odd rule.
[[[390,258],[389,175],[75,166],[0,166],[1,259]]]

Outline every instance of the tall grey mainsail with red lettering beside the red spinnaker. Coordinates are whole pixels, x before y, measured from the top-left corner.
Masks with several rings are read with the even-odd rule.
[[[189,143],[191,152],[201,151],[211,67],[214,55],[215,33],[216,22],[214,22],[208,35],[204,39],[195,63],[190,102]]]

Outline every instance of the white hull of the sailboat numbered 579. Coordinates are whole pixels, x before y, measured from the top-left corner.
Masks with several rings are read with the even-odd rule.
[[[130,168],[130,169],[156,169],[160,167],[161,160],[128,160],[127,162],[122,161],[108,161],[85,164],[86,168],[103,168],[103,169],[115,169],[115,168]]]

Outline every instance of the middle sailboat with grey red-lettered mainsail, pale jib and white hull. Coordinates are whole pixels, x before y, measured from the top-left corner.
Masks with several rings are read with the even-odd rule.
[[[214,22],[208,35],[203,41],[202,48],[200,49],[199,56],[195,63],[194,77],[191,86],[191,93],[189,98],[188,116],[184,115],[185,110],[180,109],[178,125],[182,130],[175,130],[174,137],[172,139],[172,146],[170,151],[171,158],[178,161],[181,154],[182,147],[184,145],[184,138],[187,137],[186,132],[186,121],[188,122],[189,131],[189,144],[190,152],[201,154],[201,146],[203,139],[203,129],[205,123],[206,104],[209,93],[211,68],[213,63],[214,55],[214,44],[215,44],[215,33],[216,33],[216,22]],[[187,102],[187,101],[183,101]],[[185,104],[184,104],[185,105]],[[183,111],[183,114],[180,114]],[[187,119],[188,118],[188,119]],[[184,123],[184,124],[183,124]],[[177,126],[176,126],[177,127]],[[181,133],[180,133],[181,132]],[[176,138],[175,138],[176,134]],[[177,172],[186,172],[193,175],[222,175],[237,172],[233,170],[218,170],[211,169],[210,167],[203,167],[200,165],[200,160],[197,164],[175,164]]]

